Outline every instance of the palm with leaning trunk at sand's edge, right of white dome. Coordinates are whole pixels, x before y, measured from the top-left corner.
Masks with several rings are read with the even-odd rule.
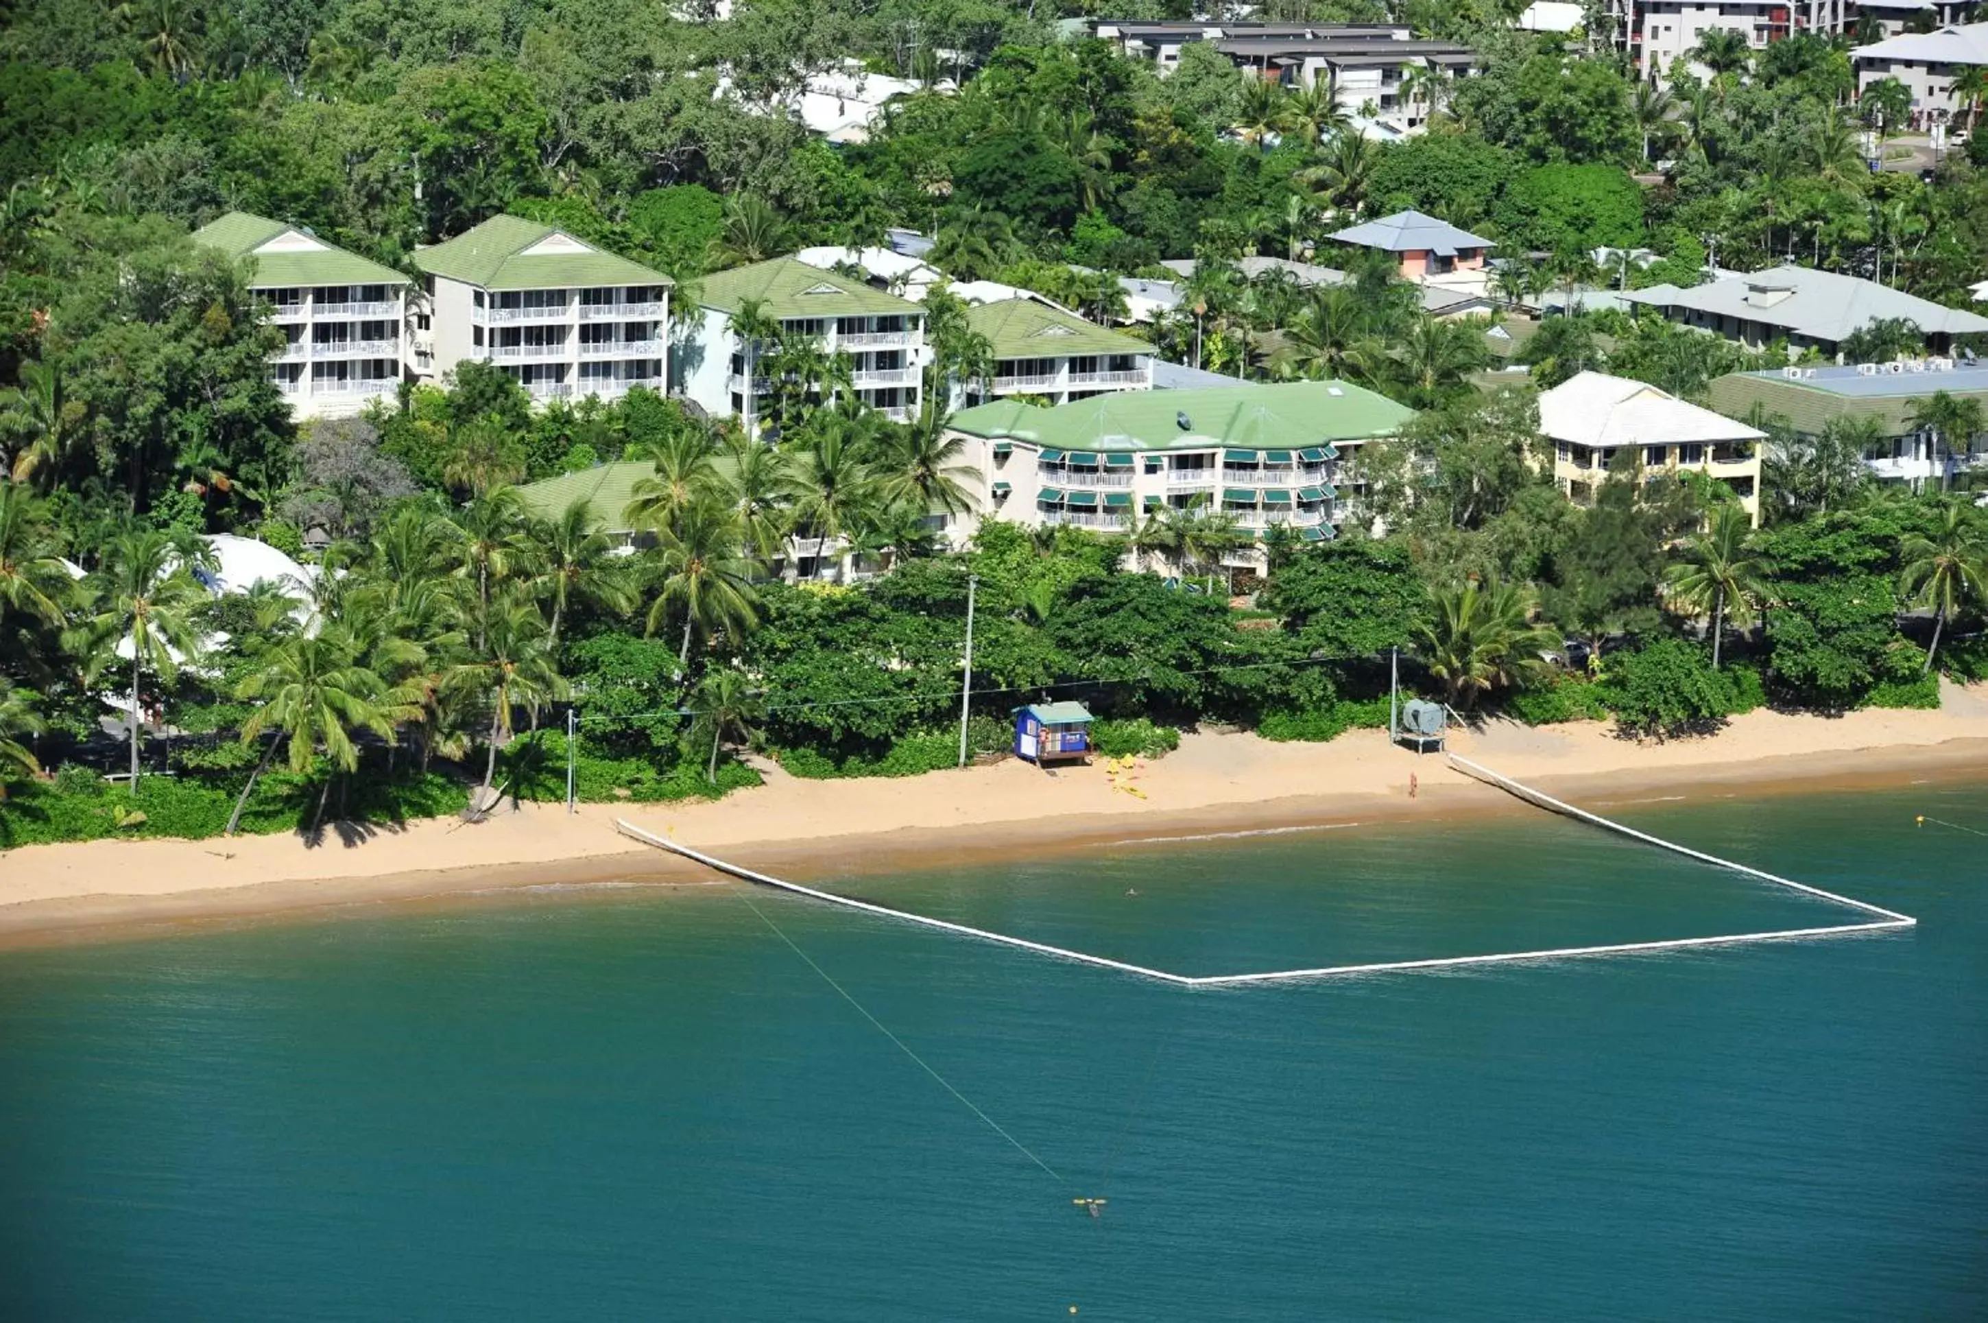
[[[243,722],[241,742],[254,744],[264,730],[272,734],[268,748],[262,750],[262,762],[248,774],[248,784],[235,800],[223,836],[235,836],[254,782],[268,766],[280,738],[290,742],[290,770],[298,776],[310,772],[320,748],[332,762],[332,776],[324,778],[318,812],[310,822],[310,830],[316,832],[324,820],[332,780],[338,772],[352,774],[360,766],[352,732],[370,730],[392,744],[394,722],[414,716],[406,704],[388,694],[378,674],[358,662],[358,645],[338,625],[318,631],[316,637],[296,635],[270,649],[262,664],[235,688],[235,696],[245,702],[262,700]]]

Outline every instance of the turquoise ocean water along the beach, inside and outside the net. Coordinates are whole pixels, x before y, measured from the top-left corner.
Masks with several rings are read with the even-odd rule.
[[[0,1319],[1988,1317],[1916,814],[1988,786],[1620,810],[1903,935],[1252,991],[753,895],[1054,1176],[728,887],[0,953]],[[1181,973],[1855,917],[1545,814],[835,885]]]

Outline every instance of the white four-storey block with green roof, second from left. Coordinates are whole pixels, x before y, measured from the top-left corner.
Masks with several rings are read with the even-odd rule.
[[[493,362],[535,400],[666,390],[670,279],[559,227],[499,215],[419,249],[417,370]]]

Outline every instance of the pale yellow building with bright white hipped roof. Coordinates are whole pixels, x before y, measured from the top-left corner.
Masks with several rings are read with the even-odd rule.
[[[1588,505],[1616,466],[1644,477],[1700,472],[1740,497],[1759,527],[1759,446],[1767,434],[1668,392],[1604,372],[1578,372],[1539,396],[1539,430],[1553,442],[1553,479]]]

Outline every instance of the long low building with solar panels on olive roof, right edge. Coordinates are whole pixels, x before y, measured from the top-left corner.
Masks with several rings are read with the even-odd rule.
[[[1747,418],[1757,408],[1761,418],[1785,418],[1803,436],[1821,436],[1837,418],[1871,420],[1881,440],[1865,454],[1865,468],[1879,481],[1924,489],[1988,466],[1988,436],[1942,438],[1912,426],[1918,408],[1942,390],[1988,408],[1988,364],[1918,358],[1732,372],[1714,380],[1708,394],[1722,414]]]

